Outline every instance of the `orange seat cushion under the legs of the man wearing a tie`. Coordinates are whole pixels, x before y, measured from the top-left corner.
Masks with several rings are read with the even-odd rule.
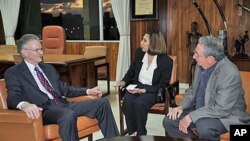
[[[78,131],[86,130],[96,125],[98,125],[98,120],[96,119],[91,119],[86,116],[81,116],[78,117],[77,119]],[[45,140],[60,138],[58,131],[59,131],[59,126],[57,124],[45,125],[44,126]]]

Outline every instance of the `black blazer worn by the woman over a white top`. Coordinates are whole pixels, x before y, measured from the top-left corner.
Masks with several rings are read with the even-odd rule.
[[[145,52],[141,48],[136,50],[134,61],[122,80],[126,82],[126,85],[129,83],[137,84],[138,88],[145,88],[147,92],[156,93],[160,88],[164,88],[169,84],[173,60],[167,54],[158,55],[156,60],[157,68],[154,70],[152,86],[144,85],[138,81],[144,55]]]

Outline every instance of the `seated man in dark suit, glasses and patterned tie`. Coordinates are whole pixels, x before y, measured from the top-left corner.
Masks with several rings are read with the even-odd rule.
[[[107,98],[82,102],[65,100],[64,97],[83,95],[100,97],[102,92],[98,87],[87,89],[63,85],[55,68],[42,63],[43,50],[36,35],[23,35],[17,42],[17,50],[23,61],[6,70],[4,75],[8,108],[21,109],[31,119],[42,116],[44,124],[58,124],[63,141],[79,140],[78,116],[97,118],[104,137],[119,135]]]

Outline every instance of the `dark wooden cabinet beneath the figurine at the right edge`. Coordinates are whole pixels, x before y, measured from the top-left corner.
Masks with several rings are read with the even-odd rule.
[[[250,59],[235,59],[231,61],[238,67],[240,71],[250,71]]]

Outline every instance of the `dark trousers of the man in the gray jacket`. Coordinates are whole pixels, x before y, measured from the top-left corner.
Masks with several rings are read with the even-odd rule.
[[[180,118],[176,120],[171,120],[168,117],[163,119],[163,126],[167,131],[168,135],[176,138],[183,137],[192,137],[199,138],[201,140],[209,140],[209,141],[219,141],[220,134],[227,132],[227,129],[223,126],[217,118],[202,118],[195,123],[191,123],[188,127],[188,134],[185,134],[179,130],[179,122],[180,120],[186,116],[188,113],[183,112]],[[196,129],[196,133],[194,133],[193,129]],[[197,136],[198,135],[198,136]]]

